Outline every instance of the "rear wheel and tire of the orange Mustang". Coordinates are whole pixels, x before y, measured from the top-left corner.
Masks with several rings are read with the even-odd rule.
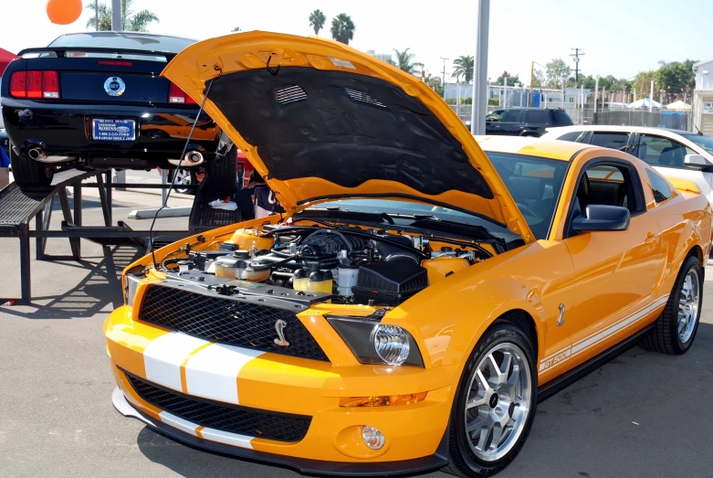
[[[662,354],[685,354],[696,338],[702,309],[703,269],[697,257],[688,256],[678,272],[664,312],[641,346]]]

